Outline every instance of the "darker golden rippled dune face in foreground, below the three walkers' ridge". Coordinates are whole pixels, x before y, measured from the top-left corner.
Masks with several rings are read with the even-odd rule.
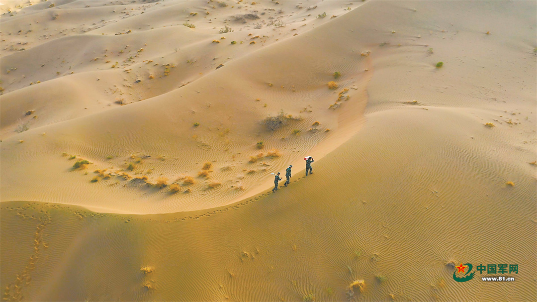
[[[312,177],[228,207],[124,215],[2,203],[2,286],[15,294],[11,282],[27,272],[19,286],[29,300],[342,301],[362,279],[358,301],[534,300],[532,175],[463,148],[473,141],[440,138],[467,132],[442,127],[467,118],[417,111],[434,134],[412,135],[424,132],[415,118],[371,114],[376,126],[316,162]],[[519,273],[457,283],[449,263],[461,262],[516,263]]]

